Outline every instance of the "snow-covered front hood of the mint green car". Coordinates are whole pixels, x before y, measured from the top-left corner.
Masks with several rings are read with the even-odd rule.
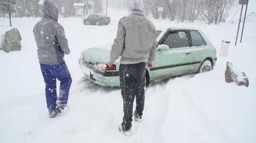
[[[93,64],[97,62],[107,63],[110,60],[110,49],[111,45],[109,44],[86,49],[82,52],[83,60]],[[119,61],[120,58],[118,58],[115,63]]]

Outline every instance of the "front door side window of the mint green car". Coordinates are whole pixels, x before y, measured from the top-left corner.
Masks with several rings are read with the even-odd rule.
[[[189,40],[186,31],[171,31],[167,38],[164,40],[165,45],[170,48],[188,47]]]

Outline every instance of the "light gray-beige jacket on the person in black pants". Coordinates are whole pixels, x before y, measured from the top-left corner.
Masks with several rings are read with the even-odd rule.
[[[156,29],[140,11],[122,18],[118,23],[117,37],[110,53],[110,61],[121,56],[121,64],[135,64],[155,58]]]

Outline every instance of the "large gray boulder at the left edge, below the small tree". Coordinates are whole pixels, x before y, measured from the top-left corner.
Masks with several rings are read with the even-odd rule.
[[[18,29],[13,28],[9,31],[6,31],[1,38],[1,48],[3,51],[9,53],[11,51],[20,51],[21,50],[21,36]]]

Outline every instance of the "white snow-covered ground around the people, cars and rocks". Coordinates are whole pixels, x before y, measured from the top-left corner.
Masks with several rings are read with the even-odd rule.
[[[146,90],[142,122],[133,122],[133,136],[119,133],[121,91],[85,80],[78,58],[86,48],[113,42],[118,20],[126,14],[111,10],[108,26],[85,26],[79,18],[59,20],[71,48],[65,60],[73,85],[69,109],[54,119],[47,116],[32,32],[39,19],[12,20],[21,33],[22,50],[0,51],[0,142],[256,142],[256,29],[250,21],[243,43],[234,46],[237,24],[153,20],[158,28],[202,29],[218,53],[221,40],[230,40],[229,56],[218,57],[214,71],[154,82]],[[0,18],[0,34],[10,29],[8,24],[9,19]],[[249,88],[225,82],[227,61],[246,73]]]

